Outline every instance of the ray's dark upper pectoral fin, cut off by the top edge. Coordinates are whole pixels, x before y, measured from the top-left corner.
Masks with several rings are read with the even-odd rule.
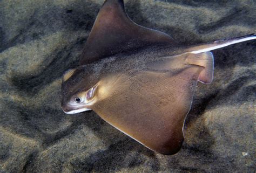
[[[123,0],[106,0],[80,56],[79,65],[151,44],[176,44],[169,35],[134,23]]]

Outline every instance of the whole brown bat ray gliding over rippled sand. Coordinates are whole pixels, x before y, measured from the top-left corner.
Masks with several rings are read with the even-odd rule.
[[[67,114],[93,110],[147,148],[176,154],[197,82],[213,80],[210,51],[255,38],[179,45],[163,32],[132,22],[123,1],[107,0],[79,66],[63,75],[62,109]]]

